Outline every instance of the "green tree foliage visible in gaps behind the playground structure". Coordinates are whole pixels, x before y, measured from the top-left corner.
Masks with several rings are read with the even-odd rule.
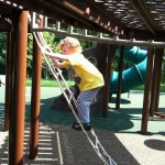
[[[52,25],[52,26],[54,28],[54,25]],[[81,30],[74,29],[74,32],[81,33]],[[50,33],[50,32],[43,32],[43,34],[44,34],[44,38],[45,38],[47,45],[50,45],[50,47],[53,50],[53,52],[61,52],[61,50],[58,47],[58,43],[65,36],[57,35],[55,33]],[[89,31],[89,35],[90,34],[97,35],[96,32]],[[90,41],[80,40],[80,44],[84,50],[92,47],[92,42],[90,42]],[[143,47],[143,48],[145,48],[145,47]],[[26,56],[28,77],[32,77],[33,35],[31,33],[28,35],[26,51],[28,51],[28,56]],[[7,33],[0,32],[0,75],[6,74],[6,57],[7,57]],[[118,63],[119,63],[119,57],[114,57],[112,61],[112,72],[113,70],[118,72]],[[131,65],[129,63],[124,63],[123,69],[127,69],[129,67],[131,67]],[[64,77],[67,79],[67,72],[65,69],[63,69],[63,74],[64,74]],[[46,78],[46,79],[53,78],[52,73],[48,72],[48,68],[44,61],[42,63],[42,78]],[[162,84],[165,85],[165,64],[163,64],[163,67],[162,67]]]

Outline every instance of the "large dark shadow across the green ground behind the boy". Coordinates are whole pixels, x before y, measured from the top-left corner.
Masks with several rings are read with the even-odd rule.
[[[75,120],[70,110],[51,109],[54,98],[41,100],[40,121],[46,124],[72,124]],[[30,105],[26,105],[26,121],[30,121]],[[141,114],[141,109],[109,109],[108,118],[102,118],[102,112],[91,111],[91,123],[95,129],[118,132],[134,127],[132,119],[140,120],[133,114]]]

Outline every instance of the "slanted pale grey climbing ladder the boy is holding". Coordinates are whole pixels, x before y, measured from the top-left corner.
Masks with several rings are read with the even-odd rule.
[[[45,62],[46,62],[46,64],[47,64],[50,70],[52,72],[54,78],[56,79],[56,81],[57,81],[57,84],[58,84],[58,86],[59,86],[59,88],[61,88],[61,90],[62,90],[62,92],[63,92],[63,95],[64,95],[64,97],[65,97],[65,99],[66,99],[68,106],[69,106],[69,109],[72,110],[72,112],[73,112],[73,114],[74,114],[76,121],[79,123],[79,125],[80,125],[82,132],[84,132],[85,135],[87,136],[87,140],[89,141],[89,143],[90,143],[91,146],[94,147],[95,152],[97,153],[97,155],[99,156],[99,158],[102,161],[102,163],[103,163],[105,165],[117,165],[116,162],[111,158],[111,156],[106,152],[106,150],[105,150],[103,146],[101,145],[101,143],[100,143],[98,136],[96,135],[94,129],[90,130],[90,133],[91,133],[92,136],[95,138],[95,142],[91,141],[91,139],[89,138],[87,131],[84,129],[81,122],[79,121],[79,119],[78,119],[78,117],[77,117],[77,114],[76,114],[76,112],[75,112],[75,110],[74,110],[74,107],[73,107],[73,105],[70,103],[72,100],[73,100],[75,107],[77,108],[77,100],[75,99],[75,97],[74,97],[72,90],[69,89],[68,85],[66,84],[66,80],[64,79],[61,69],[57,68],[57,67],[56,67],[55,69],[53,69],[52,65],[50,64],[50,62],[51,62],[50,57],[44,55],[44,52],[43,52],[43,51],[45,50],[45,47],[47,47],[47,45],[46,45],[46,42],[45,42],[45,40],[44,40],[42,33],[41,33],[41,32],[33,32],[33,35],[34,35],[34,37],[35,37],[35,40],[36,40],[36,43],[37,43],[37,45],[38,45],[38,47],[40,47],[40,50],[41,50],[41,52],[42,52],[42,54],[43,54],[43,57],[44,57],[44,59],[45,59]],[[55,66],[54,66],[54,67],[55,67]],[[65,84],[65,86],[66,86],[66,89],[67,89],[67,91],[68,91],[68,94],[69,94],[69,96],[70,96],[70,99],[68,99],[68,95],[66,94],[66,91],[64,90],[63,86],[61,85],[61,81],[59,81],[59,79],[58,79],[58,76],[59,76],[59,77],[62,78],[62,80],[64,81],[64,84]],[[108,161],[107,161],[107,160],[108,160]]]

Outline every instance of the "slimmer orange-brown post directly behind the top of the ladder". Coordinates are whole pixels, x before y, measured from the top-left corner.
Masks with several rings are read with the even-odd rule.
[[[41,99],[41,73],[42,73],[42,53],[34,38],[33,40],[32,97],[31,97],[31,133],[30,133],[30,155],[29,155],[31,160],[34,160],[37,157],[38,127],[40,127],[40,99]]]

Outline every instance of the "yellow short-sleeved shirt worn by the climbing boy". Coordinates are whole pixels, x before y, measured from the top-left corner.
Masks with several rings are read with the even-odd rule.
[[[62,62],[62,66],[68,68],[72,65],[81,78],[79,86],[80,91],[94,89],[105,85],[101,73],[82,54],[68,55],[68,61]]]

